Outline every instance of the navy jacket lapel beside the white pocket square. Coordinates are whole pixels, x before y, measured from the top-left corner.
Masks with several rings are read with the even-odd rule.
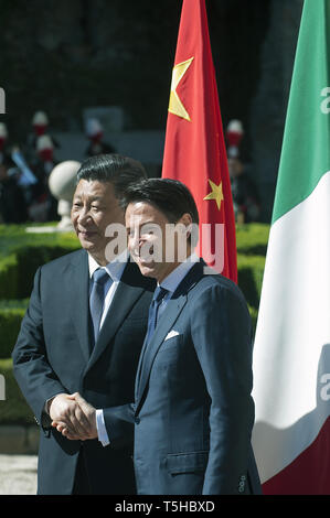
[[[159,323],[157,324],[150,343],[148,345],[146,343],[143,344],[136,382],[136,412],[138,412],[141,404],[142,396],[148,385],[148,379],[155,357],[168,332],[174,325],[180,313],[182,312],[188,301],[188,292],[202,278],[204,266],[204,261],[201,261],[191,268],[180,285],[177,288],[172,298],[169,300],[167,307],[162,313]]]

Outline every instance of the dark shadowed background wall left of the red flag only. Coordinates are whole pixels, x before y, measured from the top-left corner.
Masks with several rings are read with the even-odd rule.
[[[22,138],[45,109],[58,130],[88,106],[123,106],[126,128],[162,128],[180,2],[0,0],[0,84]]]

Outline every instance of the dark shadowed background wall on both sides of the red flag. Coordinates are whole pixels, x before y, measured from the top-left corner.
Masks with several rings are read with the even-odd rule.
[[[224,127],[243,121],[244,160],[269,219],[302,0],[207,0]],[[181,0],[0,0],[0,86],[11,139],[35,110],[82,132],[88,107],[118,106],[124,130],[164,131]],[[148,145],[146,143],[146,145]],[[146,154],[146,153],[142,153]]]

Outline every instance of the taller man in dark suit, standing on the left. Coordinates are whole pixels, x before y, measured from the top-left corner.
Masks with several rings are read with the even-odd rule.
[[[114,233],[108,231],[109,225],[124,225],[118,198],[141,177],[146,177],[143,168],[131,159],[115,154],[87,159],[77,173],[72,208],[83,249],[35,274],[12,356],[15,378],[42,432],[39,494],[136,492],[132,427],[105,449],[102,409],[134,398],[155,290],[125,255],[126,231],[124,250],[117,253],[111,251]],[[98,409],[93,420],[72,398],[76,391]],[[74,441],[52,422],[60,430],[66,427]]]

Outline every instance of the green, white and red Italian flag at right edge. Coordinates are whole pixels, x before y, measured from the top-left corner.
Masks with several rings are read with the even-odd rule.
[[[254,346],[265,494],[330,494],[330,0],[305,0]]]

